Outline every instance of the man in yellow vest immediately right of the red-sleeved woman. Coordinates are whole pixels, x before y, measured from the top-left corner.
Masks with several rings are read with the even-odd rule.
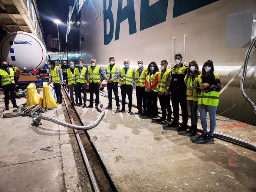
[[[160,102],[162,117],[157,119],[158,122],[164,122],[164,124],[171,123],[171,94],[169,92],[171,82],[171,70],[167,69],[167,60],[161,61],[161,72],[158,75],[158,99]],[[167,113],[166,113],[167,112]],[[167,116],[167,119],[166,119]]]

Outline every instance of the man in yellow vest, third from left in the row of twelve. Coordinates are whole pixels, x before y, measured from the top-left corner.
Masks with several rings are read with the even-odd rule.
[[[83,105],[86,107],[86,85],[88,82],[88,75],[86,73],[87,68],[83,66],[83,61],[78,60],[78,68],[75,71],[75,80],[76,80],[76,90],[78,94],[79,103],[78,105]],[[82,103],[82,95],[81,89],[83,91],[83,103]]]

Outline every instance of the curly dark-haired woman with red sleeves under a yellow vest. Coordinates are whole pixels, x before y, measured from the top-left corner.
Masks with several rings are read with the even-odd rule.
[[[147,93],[147,116],[154,118],[158,116],[157,95],[158,95],[158,66],[155,62],[148,65],[148,72],[145,75]]]

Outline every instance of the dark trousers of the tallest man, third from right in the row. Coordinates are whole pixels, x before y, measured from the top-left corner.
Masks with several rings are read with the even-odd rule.
[[[186,126],[188,123],[186,90],[173,88],[171,91],[171,105],[173,106],[173,122],[175,124],[179,121],[179,103],[181,107],[182,125]]]

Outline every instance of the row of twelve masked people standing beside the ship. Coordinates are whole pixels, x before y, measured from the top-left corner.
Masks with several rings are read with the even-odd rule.
[[[157,101],[159,99],[162,116],[160,119],[154,119],[167,126],[175,127],[179,124],[179,112],[181,107],[182,123],[178,131],[186,131],[188,124],[188,110],[190,109],[191,127],[187,130],[191,136],[197,133],[197,111],[200,112],[203,133],[198,139],[206,142],[212,141],[213,132],[216,126],[216,110],[219,103],[219,92],[221,83],[219,74],[214,73],[213,62],[207,60],[202,69],[199,70],[198,64],[192,60],[188,67],[182,63],[181,54],[175,54],[175,66],[167,69],[167,60],[162,60],[160,69],[157,63],[151,62],[144,67],[142,60],[138,60],[138,69],[129,66],[129,60],[124,60],[124,67],[120,68],[115,64],[115,58],[109,58],[109,65],[103,72],[101,67],[96,65],[96,59],[91,59],[91,66],[84,67],[83,61],[78,61],[78,68],[74,68],[74,63],[69,63],[69,69],[66,72],[66,86],[70,89],[70,99],[72,105],[82,105],[81,90],[83,91],[83,106],[86,106],[86,85],[89,83],[90,104],[87,107],[93,107],[93,93],[95,93],[95,107],[99,105],[99,85],[102,80],[107,82],[108,106],[106,109],[112,109],[112,92],[115,95],[116,109],[119,112],[125,112],[126,95],[128,96],[128,113],[132,111],[132,91],[135,85],[137,96],[137,109],[135,114],[158,117]],[[58,67],[55,69],[55,62],[51,61],[50,70],[54,87],[57,87],[56,96],[58,103],[62,103],[60,86],[62,85],[62,72]],[[214,80],[210,79],[212,74]],[[203,78],[201,78],[203,76]],[[208,77],[209,76],[209,77]],[[206,77],[206,78],[204,78]],[[206,80],[205,80],[206,79]],[[209,79],[209,82],[207,82]],[[118,84],[120,83],[122,108],[120,109]],[[211,83],[211,84],[210,84]],[[55,85],[56,84],[56,85]],[[76,92],[76,99],[73,98],[73,90]],[[58,92],[58,93],[57,93]],[[78,103],[79,99],[79,103]],[[171,105],[173,106],[173,121],[171,121]],[[180,106],[180,107],[179,107]],[[207,135],[206,111],[210,115],[210,132]]]

